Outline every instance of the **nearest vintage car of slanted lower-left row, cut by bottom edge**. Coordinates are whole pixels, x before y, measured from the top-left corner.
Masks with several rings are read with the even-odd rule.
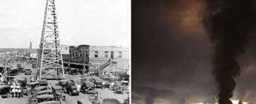
[[[28,100],[29,104],[61,104],[61,101],[55,101],[54,95],[38,95]]]

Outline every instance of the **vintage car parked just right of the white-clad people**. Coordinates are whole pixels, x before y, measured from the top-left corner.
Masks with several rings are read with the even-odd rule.
[[[38,91],[48,90],[48,86],[28,87],[23,90],[23,93],[30,96]]]

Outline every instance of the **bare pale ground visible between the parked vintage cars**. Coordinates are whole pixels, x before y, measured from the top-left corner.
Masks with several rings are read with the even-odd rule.
[[[12,66],[16,67],[17,63],[13,63]],[[17,80],[24,80],[25,77],[30,80],[31,76],[34,76],[35,73],[37,72],[37,70],[35,68],[32,68],[31,64],[26,64],[26,63],[21,63],[21,65],[25,68],[30,68],[32,69],[32,75],[24,75],[23,73],[21,73],[20,75],[16,75],[15,78]],[[66,79],[77,79],[79,78],[79,75],[65,75]],[[50,83],[53,83],[55,85],[55,83],[57,81],[54,80],[49,80]],[[123,101],[129,96],[129,95],[122,95],[122,94],[117,94],[114,93],[112,90],[108,90],[108,89],[99,89],[96,88],[96,90],[98,90],[98,98],[100,98],[100,101],[103,100],[104,98],[115,98],[117,100],[119,100],[120,103],[123,103]],[[84,93],[79,93],[78,96],[74,95],[74,96],[69,96],[66,93],[64,94],[66,95],[66,101],[62,101],[62,103],[64,104],[75,104],[77,100],[79,99],[86,99],[88,100],[88,95],[84,94]],[[28,96],[24,95],[24,98],[0,98],[0,104],[23,104],[26,103],[26,100],[28,100]]]

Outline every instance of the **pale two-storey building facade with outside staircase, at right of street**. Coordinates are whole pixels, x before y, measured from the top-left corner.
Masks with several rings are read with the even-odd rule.
[[[113,60],[106,68],[112,71],[129,70],[129,48],[119,46],[90,46],[89,70],[96,70]]]

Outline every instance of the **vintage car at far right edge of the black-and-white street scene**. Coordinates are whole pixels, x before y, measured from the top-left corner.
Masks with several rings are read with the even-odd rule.
[[[113,90],[115,93],[122,93],[127,94],[129,93],[129,87],[125,85],[126,82],[123,81],[116,81],[115,85],[113,86]]]

